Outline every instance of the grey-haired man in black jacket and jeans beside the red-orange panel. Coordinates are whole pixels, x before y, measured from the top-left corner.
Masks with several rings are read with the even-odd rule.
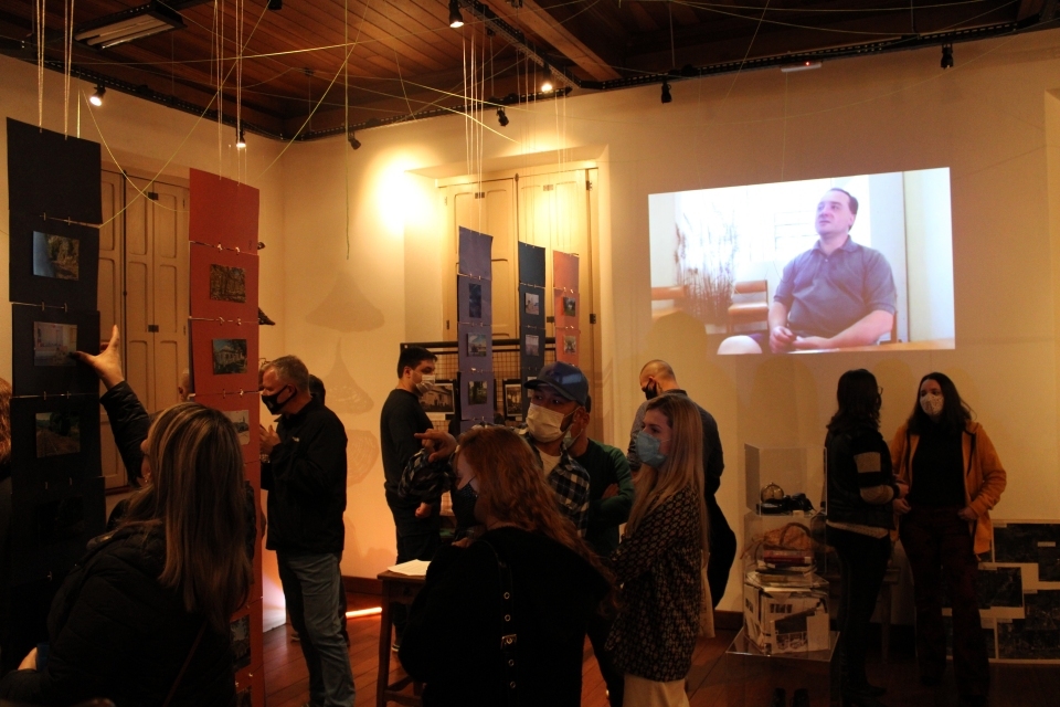
[[[353,673],[339,622],[346,541],[346,429],[309,393],[309,370],[294,356],[262,369],[262,402],[283,419],[262,430],[262,486],[290,622],[301,637],[311,705],[352,707]],[[265,471],[265,466],[268,471]]]

